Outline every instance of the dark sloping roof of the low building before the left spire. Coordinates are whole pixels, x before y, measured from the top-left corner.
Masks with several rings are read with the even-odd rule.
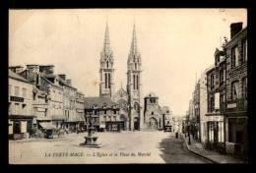
[[[112,108],[116,103],[111,100],[111,97],[85,97],[85,108],[94,108],[94,105],[98,108],[102,108],[104,105],[106,108]]]

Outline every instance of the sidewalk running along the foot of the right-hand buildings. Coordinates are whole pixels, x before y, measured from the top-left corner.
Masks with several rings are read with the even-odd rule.
[[[205,149],[203,147],[203,144],[201,144],[197,141],[194,141],[192,137],[190,138],[191,144],[188,144],[188,137],[185,138],[184,134],[181,134],[180,136],[181,136],[181,138],[183,138],[183,140],[186,144],[186,147],[190,152],[193,152],[193,153],[200,155],[208,160],[211,160],[214,163],[218,163],[218,164],[244,163],[242,160],[235,158],[231,155],[226,155],[226,154],[222,154],[220,152]]]

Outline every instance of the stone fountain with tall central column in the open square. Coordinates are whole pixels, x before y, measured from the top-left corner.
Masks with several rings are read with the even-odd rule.
[[[95,135],[95,128],[92,123],[92,114],[90,114],[89,118],[89,128],[88,128],[88,136],[84,137],[86,139],[85,143],[80,144],[85,147],[101,147],[103,144],[97,144],[96,140],[98,137]]]

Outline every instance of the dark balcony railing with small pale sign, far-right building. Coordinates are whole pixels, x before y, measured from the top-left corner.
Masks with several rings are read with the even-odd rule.
[[[221,113],[234,113],[247,111],[247,99],[240,98],[221,103]]]

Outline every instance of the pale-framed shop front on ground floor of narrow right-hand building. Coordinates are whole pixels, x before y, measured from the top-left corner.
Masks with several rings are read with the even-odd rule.
[[[210,149],[224,152],[224,116],[212,115],[207,117],[207,139],[206,146]]]

